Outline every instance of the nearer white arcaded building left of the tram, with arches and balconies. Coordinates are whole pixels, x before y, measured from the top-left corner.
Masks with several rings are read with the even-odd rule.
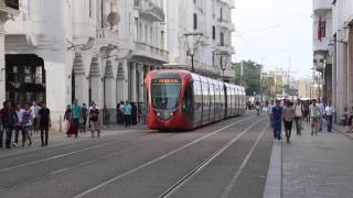
[[[8,99],[46,101],[60,128],[66,105],[95,101],[110,112],[143,102],[148,70],[168,63],[162,0],[20,0],[6,24]]]

